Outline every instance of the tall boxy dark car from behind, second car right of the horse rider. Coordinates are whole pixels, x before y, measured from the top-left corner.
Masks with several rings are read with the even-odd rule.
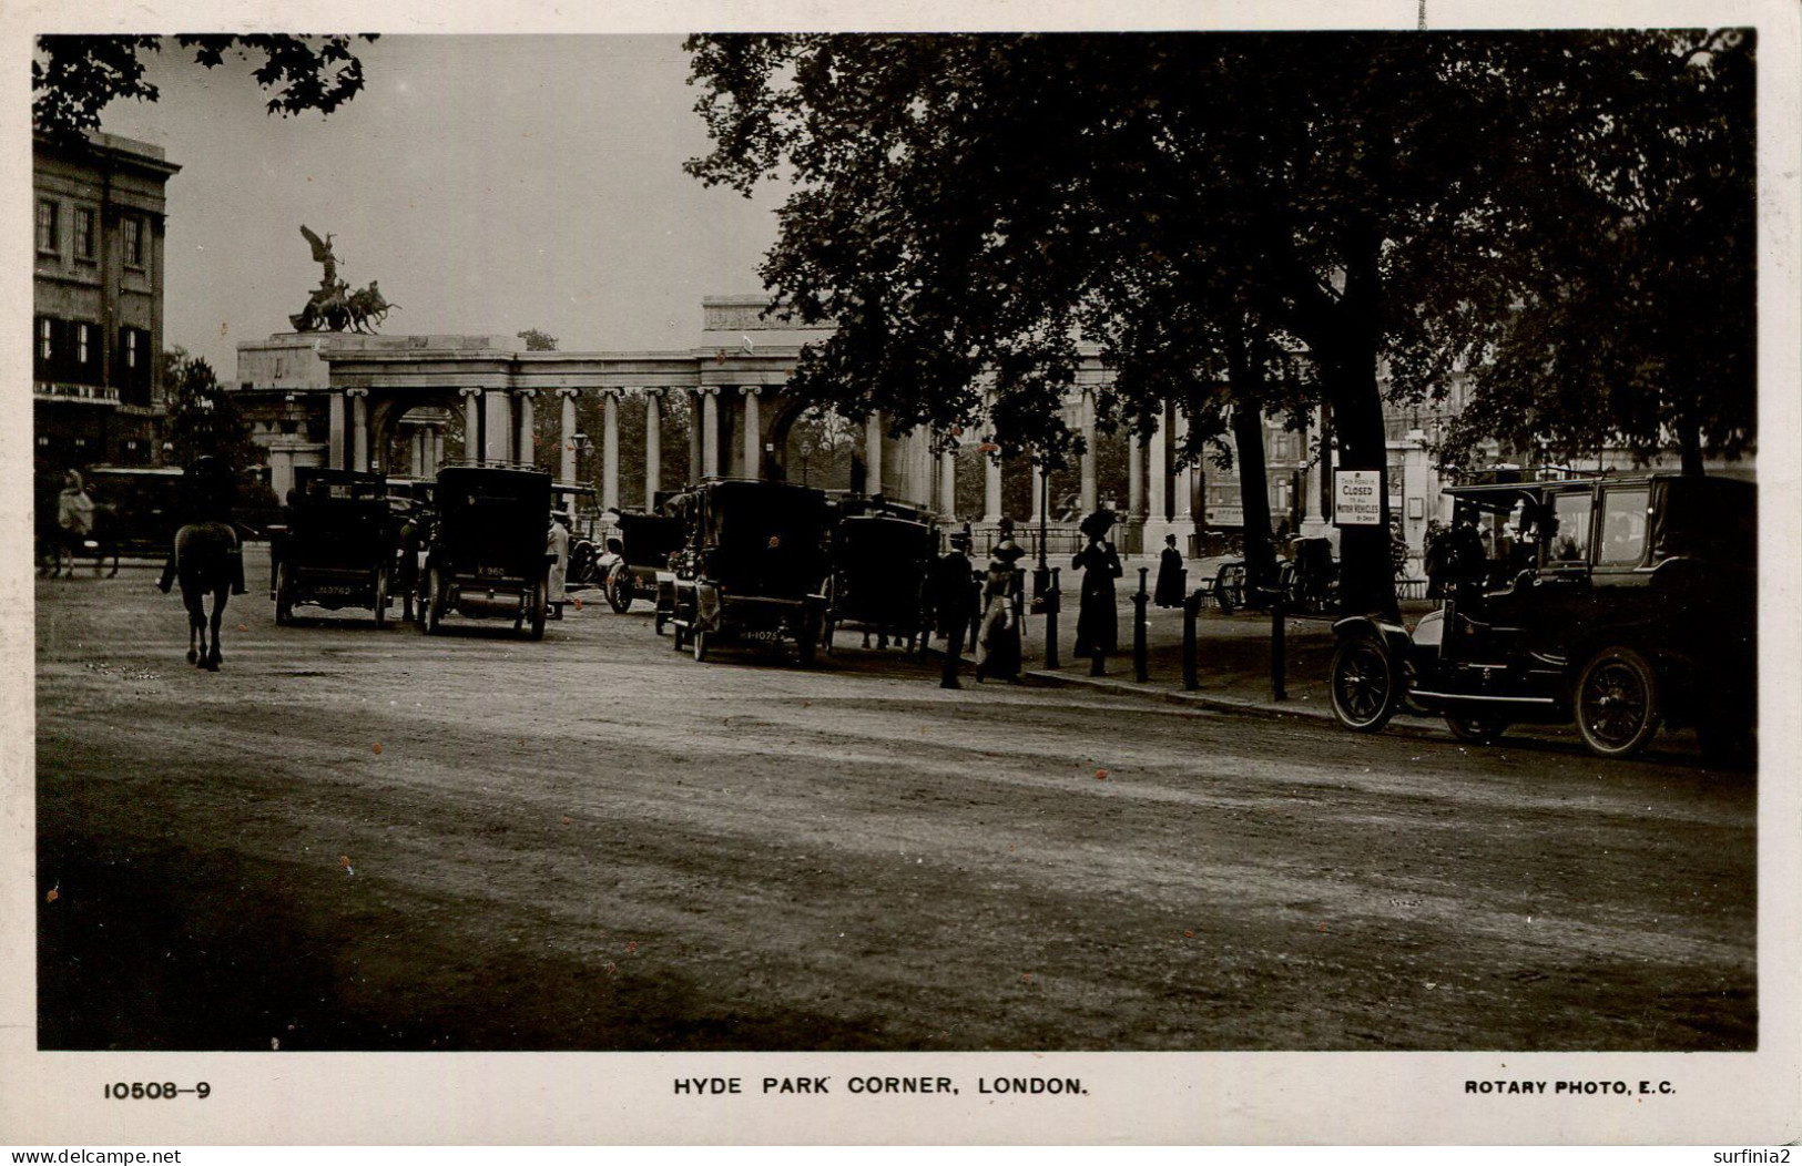
[[[450,465],[432,487],[432,521],[420,571],[420,629],[438,634],[449,613],[512,620],[544,636],[551,551],[551,476],[537,470]]]

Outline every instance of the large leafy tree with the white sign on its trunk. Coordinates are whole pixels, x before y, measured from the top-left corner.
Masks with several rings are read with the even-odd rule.
[[[1339,463],[1382,472],[1380,371],[1438,391],[1506,314],[1537,166],[1559,135],[1613,141],[1634,36],[692,38],[714,153],[688,168],[746,193],[791,177],[762,276],[834,326],[791,380],[811,400],[944,429],[986,375],[1004,449],[1056,452],[1087,337],[1115,373],[1106,424],[1173,402],[1193,456],[1234,348],[1292,348]],[[1249,422],[1270,377],[1238,364]],[[1384,492],[1344,530],[1348,609],[1395,611],[1388,517]]]

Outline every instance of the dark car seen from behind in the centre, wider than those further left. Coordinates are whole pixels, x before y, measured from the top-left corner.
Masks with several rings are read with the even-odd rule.
[[[793,640],[813,665],[825,624],[822,490],[777,481],[705,481],[672,499],[687,542],[670,586],[676,651],[706,660],[721,640]]]

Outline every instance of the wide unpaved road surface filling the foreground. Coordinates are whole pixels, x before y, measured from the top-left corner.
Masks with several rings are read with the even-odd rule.
[[[1752,775],[36,595],[43,1047],[1755,1045]]]

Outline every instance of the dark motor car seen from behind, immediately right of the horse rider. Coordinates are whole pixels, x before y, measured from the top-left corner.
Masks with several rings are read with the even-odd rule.
[[[276,624],[294,609],[366,607],[387,625],[393,600],[395,524],[387,479],[362,470],[303,467],[294,472],[285,526],[270,532]]]

